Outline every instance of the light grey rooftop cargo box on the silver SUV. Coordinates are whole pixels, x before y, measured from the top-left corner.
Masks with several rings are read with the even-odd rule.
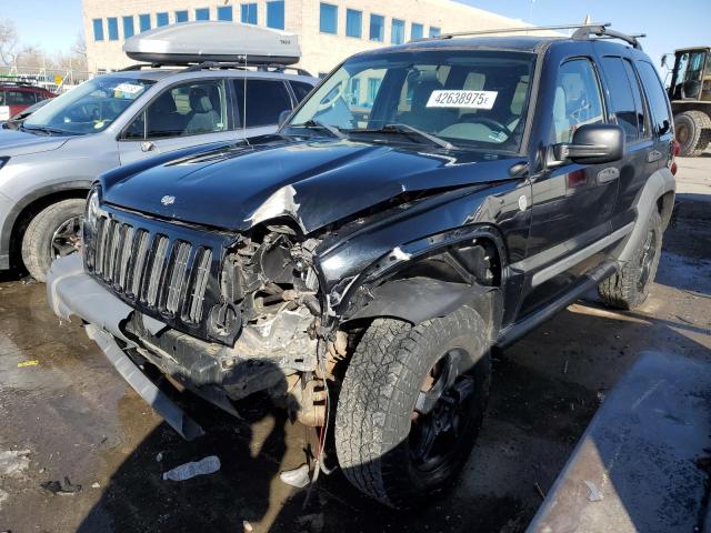
[[[224,21],[182,22],[144,31],[126,40],[137,61],[186,64],[202,61],[293,64],[301,58],[299,37],[286,31]]]

